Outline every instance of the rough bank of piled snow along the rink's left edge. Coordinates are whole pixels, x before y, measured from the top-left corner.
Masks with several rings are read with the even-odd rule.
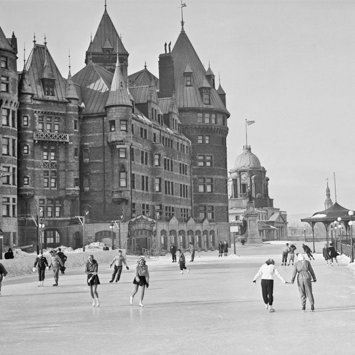
[[[47,258],[48,263],[50,260],[50,255],[48,253],[49,250],[51,249],[49,248],[47,251],[43,251],[43,256]],[[118,250],[108,250],[108,251],[89,250],[87,252],[85,251],[84,253],[82,251],[77,252],[77,250],[72,253],[68,253],[65,250],[65,247],[61,247],[61,250],[67,256],[65,262],[65,267],[67,269],[76,268],[76,267],[84,268],[84,265],[88,260],[88,256],[93,255],[94,259],[97,261],[99,265],[99,272],[100,272],[100,264],[107,264],[108,266],[110,266],[111,261],[118,254]],[[121,249],[121,250],[122,250],[122,255],[126,256],[126,250],[125,249]],[[33,268],[35,258],[37,258],[37,254],[28,254],[27,256],[22,258],[7,259],[7,260],[3,259],[0,260],[0,263],[2,263],[6,268],[6,271],[8,272],[7,277],[25,276],[25,275],[33,274],[32,268]],[[50,270],[50,272],[52,272],[52,269]]]

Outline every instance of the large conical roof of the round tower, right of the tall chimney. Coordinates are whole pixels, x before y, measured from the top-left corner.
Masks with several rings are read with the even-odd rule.
[[[204,104],[198,87],[206,78],[206,69],[193,48],[187,34],[182,30],[171,51],[174,62],[175,94],[179,108],[206,108],[223,110],[229,115],[215,88],[211,88],[210,104]],[[188,67],[189,65],[189,67]],[[185,86],[184,72],[191,70],[192,86]]]

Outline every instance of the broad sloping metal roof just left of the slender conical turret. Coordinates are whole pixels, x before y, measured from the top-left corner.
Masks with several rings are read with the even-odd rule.
[[[73,81],[81,88],[81,99],[85,104],[85,113],[105,112],[113,74],[91,60],[88,65],[73,76]]]

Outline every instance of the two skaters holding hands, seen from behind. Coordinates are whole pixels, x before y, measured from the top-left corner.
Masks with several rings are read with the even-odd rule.
[[[314,310],[314,298],[312,293],[312,283],[315,282],[315,274],[313,268],[308,260],[305,260],[303,254],[297,255],[298,261],[294,265],[291,281],[287,282],[281,275],[278,269],[275,267],[275,262],[272,259],[266,260],[259,271],[254,276],[253,282],[261,278],[261,290],[266,309],[270,312],[274,312],[273,307],[273,287],[274,287],[274,275],[276,275],[282,283],[294,283],[297,275],[297,286],[301,296],[302,309],[306,309],[306,300],[309,299],[311,310]]]

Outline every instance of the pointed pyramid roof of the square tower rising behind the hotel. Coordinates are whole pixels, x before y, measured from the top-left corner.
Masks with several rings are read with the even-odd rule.
[[[92,40],[92,43],[90,43],[87,52],[92,52],[92,53],[102,52],[102,49],[105,47],[105,43],[107,40],[109,41],[110,45],[113,45],[113,47],[112,46],[110,47],[113,48],[113,52],[127,53],[116,31],[116,28],[105,8],[105,11],[101,17],[101,21],[98,25],[97,31],[95,33],[94,39]]]

